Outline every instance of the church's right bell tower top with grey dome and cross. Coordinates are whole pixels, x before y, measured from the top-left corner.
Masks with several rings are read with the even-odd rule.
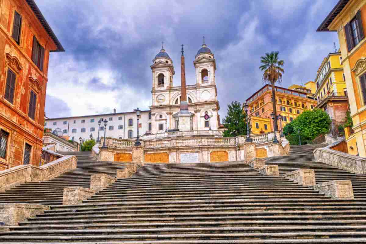
[[[198,50],[193,64],[196,69],[197,86],[215,84],[216,61],[211,49],[205,44],[205,37],[203,37],[203,44]]]

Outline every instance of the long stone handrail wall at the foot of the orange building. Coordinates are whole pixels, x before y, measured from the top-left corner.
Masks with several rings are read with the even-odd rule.
[[[76,169],[76,162],[76,156],[67,155],[42,166],[19,165],[0,171],[0,192],[21,183],[52,179],[70,169]]]

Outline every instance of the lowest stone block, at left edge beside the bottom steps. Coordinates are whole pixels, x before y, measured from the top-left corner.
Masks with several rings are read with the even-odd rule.
[[[41,204],[1,203],[0,222],[3,223],[1,227],[6,230],[7,226],[18,225],[18,222],[49,209],[49,206]]]

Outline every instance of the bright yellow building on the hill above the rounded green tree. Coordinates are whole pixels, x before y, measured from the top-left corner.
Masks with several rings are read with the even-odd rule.
[[[332,120],[344,122],[349,105],[340,52],[329,53],[323,59],[315,81],[317,90],[314,96],[318,101],[316,108],[324,110]]]

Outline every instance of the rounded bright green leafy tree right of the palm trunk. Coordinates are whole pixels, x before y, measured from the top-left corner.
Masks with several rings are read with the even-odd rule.
[[[321,134],[329,133],[331,122],[329,115],[321,109],[305,110],[292,121],[292,134],[297,134],[300,130],[302,136],[313,140]]]

